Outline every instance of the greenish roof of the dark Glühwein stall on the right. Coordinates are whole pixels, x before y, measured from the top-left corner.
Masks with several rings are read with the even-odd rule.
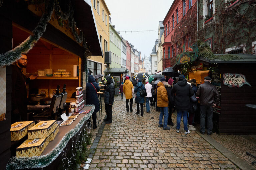
[[[214,55],[230,55],[230,54],[214,54]],[[220,60],[220,59],[214,59],[214,60],[210,60],[207,58],[203,58],[203,57],[199,57],[198,61],[200,62],[204,62],[204,63],[256,63],[256,55],[251,55],[251,54],[233,54],[233,55],[237,55],[238,57],[240,57],[240,59],[233,59],[233,60],[229,60],[229,61],[225,61],[225,60]]]

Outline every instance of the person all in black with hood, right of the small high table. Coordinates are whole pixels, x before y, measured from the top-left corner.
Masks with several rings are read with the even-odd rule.
[[[107,114],[107,118],[104,119],[106,124],[112,123],[112,105],[114,104],[114,95],[115,95],[115,88],[113,85],[113,80],[110,75],[107,75],[105,78],[107,86],[105,87],[104,93],[104,103],[105,103],[105,110]]]

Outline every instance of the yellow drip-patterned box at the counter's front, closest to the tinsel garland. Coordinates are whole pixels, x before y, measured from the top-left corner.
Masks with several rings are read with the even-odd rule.
[[[40,156],[49,144],[49,137],[40,139],[27,139],[16,149],[16,156]]]

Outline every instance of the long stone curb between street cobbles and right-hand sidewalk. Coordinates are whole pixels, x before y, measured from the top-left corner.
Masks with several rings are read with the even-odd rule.
[[[177,117],[177,113],[173,113]],[[220,151],[224,156],[226,156],[231,162],[233,162],[236,166],[238,166],[242,170],[255,170],[251,165],[249,165],[246,161],[237,157],[234,153],[226,149],[220,143],[218,143],[215,139],[207,134],[201,134],[200,129],[195,127],[195,132],[203,137],[207,142],[209,142],[213,147],[215,147],[218,151]]]

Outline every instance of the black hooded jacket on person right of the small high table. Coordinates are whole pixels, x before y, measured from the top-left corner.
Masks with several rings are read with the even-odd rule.
[[[113,81],[112,78],[107,75],[105,77],[105,79],[107,80],[107,86],[105,88],[105,93],[104,93],[104,103],[105,104],[112,104],[114,103],[114,95],[115,95],[115,88],[113,85]]]

